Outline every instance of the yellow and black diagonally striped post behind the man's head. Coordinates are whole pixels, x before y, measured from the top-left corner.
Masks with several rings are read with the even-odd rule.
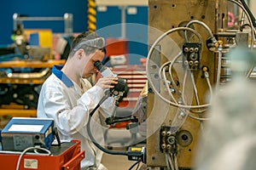
[[[96,31],[96,0],[88,0],[88,31]]]

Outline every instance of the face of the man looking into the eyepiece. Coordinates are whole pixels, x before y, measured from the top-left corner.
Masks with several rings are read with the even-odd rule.
[[[85,56],[86,61],[82,75],[83,78],[91,77],[93,74],[97,72],[94,63],[98,60],[102,61],[104,55],[105,54],[101,50],[96,50],[96,53],[90,54],[89,56]]]

